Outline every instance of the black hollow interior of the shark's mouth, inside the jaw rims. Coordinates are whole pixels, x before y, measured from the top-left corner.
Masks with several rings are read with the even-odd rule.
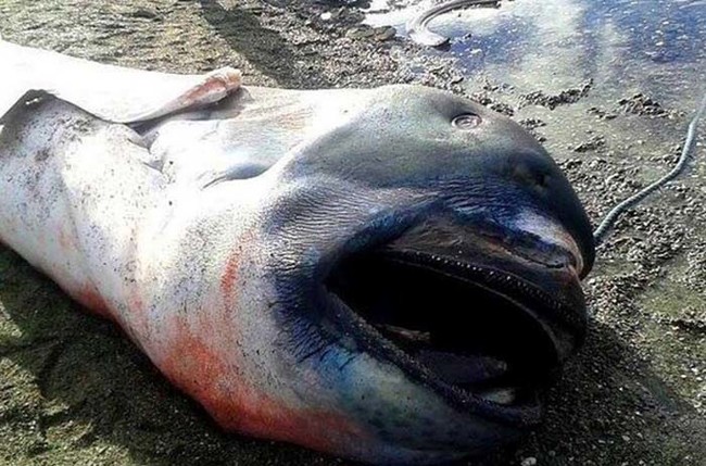
[[[434,377],[486,400],[533,400],[556,366],[528,308],[459,267],[377,251],[343,261],[327,286]]]

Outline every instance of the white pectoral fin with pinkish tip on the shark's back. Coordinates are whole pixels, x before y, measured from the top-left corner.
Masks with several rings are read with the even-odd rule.
[[[102,119],[135,123],[217,102],[240,86],[238,70],[203,75],[129,70],[0,40],[0,115],[43,90]]]

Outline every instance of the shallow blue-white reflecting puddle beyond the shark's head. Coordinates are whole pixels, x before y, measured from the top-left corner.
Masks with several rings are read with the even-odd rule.
[[[405,23],[434,3],[374,0],[366,22],[404,37]],[[519,88],[558,91],[592,78],[605,99],[640,89],[689,111],[706,89],[703,0],[504,0],[452,11],[430,28],[451,38],[445,53],[467,72]]]

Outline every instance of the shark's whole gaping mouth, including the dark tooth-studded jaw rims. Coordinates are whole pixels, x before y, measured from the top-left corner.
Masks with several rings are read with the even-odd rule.
[[[343,259],[326,286],[369,352],[458,410],[515,425],[539,421],[539,392],[582,339],[557,317],[576,310],[451,255],[382,247]]]

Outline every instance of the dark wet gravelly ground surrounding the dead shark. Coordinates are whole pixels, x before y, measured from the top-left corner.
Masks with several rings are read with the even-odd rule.
[[[451,52],[428,53],[381,32],[351,33],[364,15],[355,2],[344,3],[1,0],[0,34],[149,70],[231,64],[253,85],[419,83],[469,95],[544,141],[594,222],[676,161],[693,95],[703,90],[703,60],[668,65],[656,56],[644,65],[610,59],[614,68],[633,73],[626,77],[601,66],[614,46],[594,41],[595,66],[587,66],[579,59],[589,49],[577,53],[559,29],[550,36],[559,42],[556,53],[529,41],[532,53],[513,52],[504,64],[493,59],[500,51],[490,53],[490,29],[477,42],[466,39],[465,49],[455,42]],[[323,12],[333,17],[324,21]],[[610,36],[612,45],[625,40]],[[633,56],[629,47],[626,53]],[[685,77],[675,83],[680,73]],[[521,443],[468,464],[706,465],[703,146],[702,136],[690,173],[626,215],[600,249],[585,281],[594,313],[590,336],[550,392],[545,424]],[[0,464],[340,463],[223,433],[111,325],[81,313],[18,256],[0,250]]]

